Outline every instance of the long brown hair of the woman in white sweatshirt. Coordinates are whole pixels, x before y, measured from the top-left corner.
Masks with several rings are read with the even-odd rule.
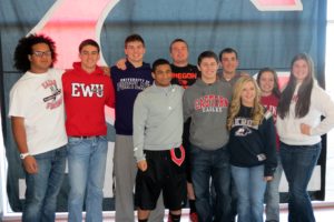
[[[308,54],[299,53],[296,54],[292,60],[289,80],[286,88],[283,90],[281,100],[278,102],[277,113],[282,119],[284,119],[288,114],[289,104],[296,89],[297,80],[293,74],[293,65],[297,60],[304,60],[307,63],[308,73],[307,77],[303,80],[302,85],[299,87],[297,92],[298,100],[295,108],[295,118],[305,117],[310,110],[311,92],[314,84],[314,64]]]

